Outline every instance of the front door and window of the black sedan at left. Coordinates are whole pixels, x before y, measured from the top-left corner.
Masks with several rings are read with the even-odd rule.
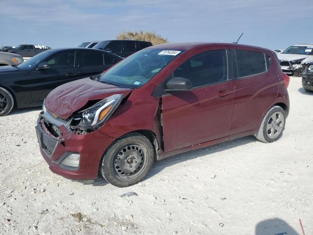
[[[62,51],[43,61],[50,69],[33,70],[28,74],[28,84],[33,102],[43,101],[54,88],[79,78],[75,64],[76,51]]]

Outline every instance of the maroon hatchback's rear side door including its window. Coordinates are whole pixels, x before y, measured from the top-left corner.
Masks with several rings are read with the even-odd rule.
[[[268,55],[257,49],[236,47],[232,55],[236,89],[231,135],[257,128],[260,118],[278,94],[278,78],[270,67]]]

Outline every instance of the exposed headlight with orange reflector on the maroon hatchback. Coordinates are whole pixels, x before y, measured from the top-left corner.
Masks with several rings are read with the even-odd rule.
[[[123,94],[113,94],[87,109],[78,111],[69,120],[70,127],[82,130],[97,129],[112,116],[122,99]]]

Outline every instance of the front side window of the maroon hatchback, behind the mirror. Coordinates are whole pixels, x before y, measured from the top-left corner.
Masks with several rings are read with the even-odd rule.
[[[188,78],[193,87],[227,81],[227,76],[226,50],[202,52],[174,71],[174,77]]]

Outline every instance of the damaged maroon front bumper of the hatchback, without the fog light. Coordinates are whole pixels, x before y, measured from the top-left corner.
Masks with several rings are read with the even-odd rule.
[[[59,126],[62,138],[54,137],[42,126],[42,117],[37,120],[36,132],[40,145],[40,152],[53,173],[70,179],[87,180],[98,176],[99,164],[103,154],[113,138],[98,131],[87,135],[77,135],[62,125]],[[80,154],[78,167],[62,164],[71,153]]]

